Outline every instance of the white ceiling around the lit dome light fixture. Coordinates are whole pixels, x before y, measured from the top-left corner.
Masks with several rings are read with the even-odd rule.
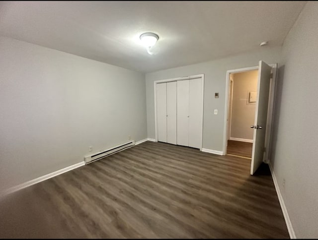
[[[282,45],[304,1],[8,1],[0,35],[151,72]],[[140,45],[159,35],[153,56]]]

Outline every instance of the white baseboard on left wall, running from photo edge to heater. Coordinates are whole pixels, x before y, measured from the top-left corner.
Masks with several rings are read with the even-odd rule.
[[[60,170],[58,170],[58,171],[55,171],[55,172],[53,172],[53,173],[44,175],[44,176],[42,176],[42,177],[39,177],[39,178],[36,178],[36,179],[33,179],[33,180],[26,181],[26,182],[21,183],[21,184],[19,184],[19,185],[10,187],[10,188],[7,189],[7,190],[4,190],[3,192],[1,192],[1,195],[6,195],[6,194],[9,194],[9,193],[18,191],[18,190],[23,189],[23,188],[25,188],[25,187],[34,185],[34,184],[36,184],[36,183],[38,183],[38,182],[41,182],[41,181],[44,181],[44,180],[51,179],[51,178],[53,178],[53,177],[56,177],[56,176],[61,175],[61,174],[64,174],[64,173],[66,173],[66,172],[69,172],[69,171],[71,171],[71,170],[73,170],[73,169],[79,168],[79,167],[84,166],[84,165],[85,165],[85,163],[84,163],[84,161],[83,161],[83,162],[74,164],[74,165],[72,165],[72,166],[66,167],[66,168],[64,168],[64,169],[60,169]]]

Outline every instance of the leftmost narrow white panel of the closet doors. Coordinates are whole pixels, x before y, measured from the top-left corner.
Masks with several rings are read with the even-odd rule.
[[[166,83],[158,83],[156,88],[157,88],[158,141],[167,142]]]

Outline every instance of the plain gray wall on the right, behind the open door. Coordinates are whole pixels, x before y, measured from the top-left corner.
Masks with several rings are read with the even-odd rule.
[[[317,24],[309,1],[284,42],[275,98],[271,165],[297,238],[318,238]]]

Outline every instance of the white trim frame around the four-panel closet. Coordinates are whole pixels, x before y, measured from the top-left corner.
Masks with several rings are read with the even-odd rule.
[[[157,84],[163,83],[163,82],[174,82],[174,81],[182,81],[182,80],[190,80],[190,79],[196,79],[201,78],[202,79],[202,124],[201,124],[201,144],[200,144],[200,151],[202,151],[202,145],[203,145],[203,112],[204,112],[204,74],[197,74],[192,76],[184,76],[184,77],[176,77],[176,78],[169,78],[169,79],[163,79],[163,80],[156,80],[154,81],[154,100],[155,100],[155,141],[158,142],[158,122],[157,122]],[[178,111],[178,110],[177,110]]]

